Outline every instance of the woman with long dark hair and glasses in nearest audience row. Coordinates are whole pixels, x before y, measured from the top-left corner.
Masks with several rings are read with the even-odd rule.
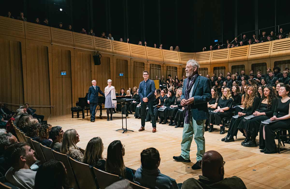
[[[108,146],[106,171],[119,175],[124,179],[133,181],[134,174],[131,169],[125,167],[123,156],[125,155],[125,145],[120,140],[114,140]]]

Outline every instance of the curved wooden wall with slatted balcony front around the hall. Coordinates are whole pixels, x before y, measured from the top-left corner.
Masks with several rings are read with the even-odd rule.
[[[93,79],[101,90],[107,80],[120,88],[139,86],[142,71],[167,78],[185,75],[189,59],[200,64],[200,73],[289,67],[290,38],[232,49],[185,53],[112,41],[0,16],[0,65],[4,79],[0,101],[55,108],[36,108],[39,114],[70,113],[78,97],[84,97]],[[99,51],[101,65],[94,65]],[[13,71],[13,72],[12,72]],[[60,72],[66,71],[66,76]],[[119,76],[119,73],[124,76]],[[13,86],[13,87],[12,87]]]

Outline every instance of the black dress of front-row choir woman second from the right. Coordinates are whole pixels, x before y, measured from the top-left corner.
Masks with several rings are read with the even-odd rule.
[[[264,112],[266,115],[253,117],[250,120],[243,119],[240,126],[243,125],[243,129],[246,130],[247,136],[251,136],[251,138],[256,138],[256,136],[258,136],[261,121],[268,120],[273,116],[276,103],[277,103],[276,98],[272,100],[271,106],[268,106],[268,104],[262,103],[262,100],[261,100],[256,111],[261,112],[261,113]],[[238,128],[240,128],[240,126]]]

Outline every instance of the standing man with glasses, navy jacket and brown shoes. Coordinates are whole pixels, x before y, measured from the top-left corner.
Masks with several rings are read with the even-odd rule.
[[[141,128],[139,131],[144,131],[145,130],[145,112],[146,112],[146,107],[148,107],[148,114],[151,116],[152,120],[152,127],[153,130],[152,132],[156,132],[156,120],[155,120],[155,115],[153,113],[153,102],[155,101],[155,83],[153,80],[148,79],[149,74],[148,71],[144,70],[143,71],[143,78],[144,81],[140,82],[139,85],[139,96],[141,100]]]

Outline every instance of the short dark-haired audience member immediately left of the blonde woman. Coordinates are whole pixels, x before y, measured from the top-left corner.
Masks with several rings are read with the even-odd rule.
[[[64,130],[61,126],[54,126],[49,131],[49,138],[52,140],[50,148],[57,152],[60,152],[62,146],[62,138],[64,136]]]

